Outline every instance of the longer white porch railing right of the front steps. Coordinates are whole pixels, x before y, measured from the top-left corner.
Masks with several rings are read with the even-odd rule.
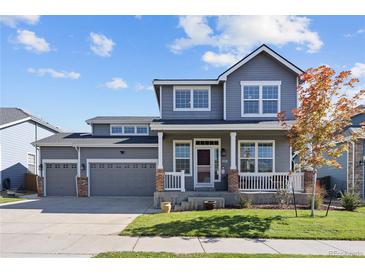
[[[304,174],[289,172],[274,173],[240,173],[240,191],[278,191],[288,190],[300,192],[304,189]]]

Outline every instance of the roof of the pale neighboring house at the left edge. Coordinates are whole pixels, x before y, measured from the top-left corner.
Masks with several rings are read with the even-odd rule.
[[[28,112],[20,108],[1,107],[0,108],[0,129],[10,127],[25,121],[32,120],[44,127],[47,127],[55,132],[61,132],[62,130],[56,126],[53,126],[40,118],[37,118]]]

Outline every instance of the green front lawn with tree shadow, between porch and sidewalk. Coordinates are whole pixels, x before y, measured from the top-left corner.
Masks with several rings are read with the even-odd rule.
[[[365,240],[365,207],[356,212],[222,209],[141,215],[124,229],[125,236],[202,236],[237,238]]]

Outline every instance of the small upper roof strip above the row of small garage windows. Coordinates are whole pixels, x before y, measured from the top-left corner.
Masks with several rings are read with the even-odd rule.
[[[87,124],[140,124],[140,123],[151,123],[154,119],[158,117],[155,116],[96,116],[86,120]]]

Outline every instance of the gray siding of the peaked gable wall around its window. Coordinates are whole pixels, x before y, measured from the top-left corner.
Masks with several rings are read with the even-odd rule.
[[[227,77],[227,120],[267,120],[260,117],[241,117],[241,81],[281,81],[281,111],[289,119],[296,107],[296,74],[267,53],[260,53]],[[274,118],[270,118],[275,119]]]

